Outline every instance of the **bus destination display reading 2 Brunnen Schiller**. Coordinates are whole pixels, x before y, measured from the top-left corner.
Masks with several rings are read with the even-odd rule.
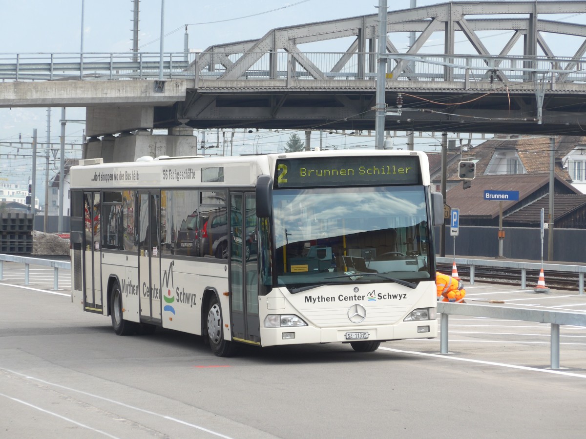
[[[346,156],[279,159],[276,187],[418,184],[418,156]]]

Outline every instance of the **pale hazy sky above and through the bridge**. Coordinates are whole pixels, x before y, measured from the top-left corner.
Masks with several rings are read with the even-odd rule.
[[[440,4],[441,1],[417,0],[417,6]],[[389,10],[407,9],[411,0],[387,0]],[[2,43],[0,54],[4,53],[79,53],[81,49],[81,5],[82,0],[0,0],[2,6]],[[83,11],[83,50],[84,52],[110,53],[128,52],[132,48],[132,9],[133,0],[84,0]],[[161,34],[161,0],[141,0],[139,14],[139,50],[158,53]],[[185,25],[188,25],[189,48],[206,49],[213,44],[229,43],[248,39],[258,39],[269,30],[282,26],[300,25],[323,20],[347,18],[376,14],[378,0],[165,0],[165,52],[182,52]],[[547,16],[573,23],[584,23],[584,14],[572,16]],[[492,53],[498,53],[509,39],[510,32],[493,32],[483,35],[483,43]],[[460,38],[460,39],[463,39]],[[472,53],[468,43],[456,39],[461,53]],[[404,42],[396,41],[399,50],[407,47]],[[442,36],[430,40],[426,50],[441,50]],[[572,56],[581,41],[570,41],[565,37],[552,37],[548,44],[558,56]],[[327,52],[335,50],[333,43],[319,43],[311,50]],[[468,46],[466,46],[468,45]],[[336,50],[345,50],[340,47]],[[51,139],[59,142],[60,108],[52,109]],[[83,119],[83,109],[67,109],[67,119]],[[44,142],[47,132],[46,109],[12,108],[0,109],[0,142],[30,142],[33,128],[38,130],[40,142]],[[79,143],[84,126],[67,124],[66,142]],[[304,135],[300,133],[302,140]],[[215,136],[214,136],[215,137]],[[275,136],[248,136],[241,140],[241,147],[276,150],[279,142]],[[399,143],[402,140],[399,140]],[[314,141],[312,141],[314,142]],[[329,138],[327,143],[337,145],[360,145],[372,139]],[[433,149],[434,140],[423,142],[424,147]],[[315,145],[315,143],[312,143]],[[6,149],[1,148],[5,153]],[[21,163],[22,162],[22,163]],[[12,173],[24,175],[26,166],[22,160],[11,162]],[[30,164],[29,164],[30,167]],[[4,173],[6,173],[4,171]],[[25,177],[22,177],[25,179]],[[39,190],[38,190],[39,191]],[[39,193],[39,192],[38,192]]]

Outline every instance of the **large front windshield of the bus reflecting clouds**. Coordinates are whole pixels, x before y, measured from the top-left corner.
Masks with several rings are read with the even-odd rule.
[[[430,279],[425,198],[423,186],[273,191],[277,286]]]

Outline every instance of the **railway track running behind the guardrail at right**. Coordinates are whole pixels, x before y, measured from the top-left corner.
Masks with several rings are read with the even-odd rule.
[[[441,273],[451,275],[452,265],[438,263],[437,269]],[[470,267],[458,266],[458,276],[466,283],[470,280]],[[550,289],[563,289],[570,291],[580,290],[580,280],[577,273],[548,272],[544,270],[546,286]],[[495,283],[521,287],[521,270],[507,268],[474,267],[474,280],[483,283]],[[526,287],[533,288],[539,280],[539,270],[527,270]]]

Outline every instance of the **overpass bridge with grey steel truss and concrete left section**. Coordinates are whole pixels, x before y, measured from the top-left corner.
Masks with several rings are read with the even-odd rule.
[[[385,128],[582,135],[586,26],[550,19],[581,13],[583,1],[390,11],[386,104],[400,115],[387,116]],[[94,145],[86,156],[99,150],[106,159],[116,144],[142,155],[139,136],[113,135],[152,128],[169,129],[166,153],[181,153],[199,128],[373,130],[377,26],[372,14],[272,29],[202,53],[165,54],[162,74],[152,53],[0,55],[0,106],[86,107]],[[495,31],[508,39],[491,53],[483,36]],[[401,52],[410,32],[416,38]],[[425,53],[438,36],[441,53]],[[553,36],[578,44],[556,53]],[[456,51],[462,37],[469,53]],[[326,41],[340,51],[312,52]]]

